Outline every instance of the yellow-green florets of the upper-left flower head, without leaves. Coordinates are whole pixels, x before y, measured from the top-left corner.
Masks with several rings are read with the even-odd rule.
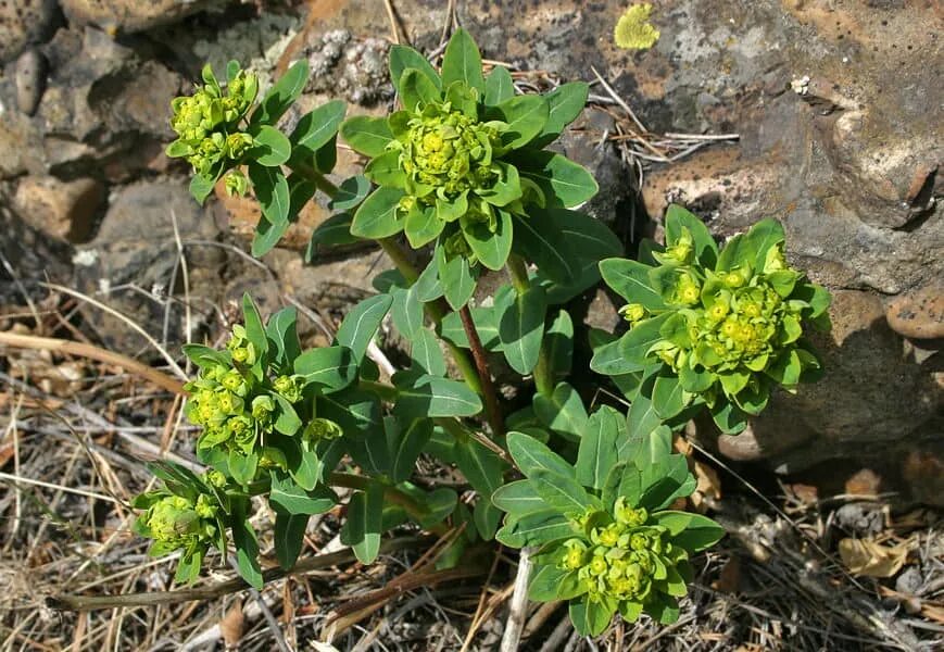
[[[240,130],[259,91],[259,80],[252,73],[239,71],[222,89],[204,71],[205,86],[191,96],[171,102],[174,114],[171,127],[177,140],[167,148],[167,155],[184,156],[202,176],[215,176],[221,163],[235,164],[252,147],[252,136]]]

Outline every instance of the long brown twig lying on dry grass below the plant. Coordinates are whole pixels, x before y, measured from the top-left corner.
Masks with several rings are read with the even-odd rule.
[[[431,542],[429,537],[400,537],[380,542],[380,552],[390,553],[398,550],[418,548]],[[354,552],[349,548],[328,554],[319,554],[314,557],[300,561],[290,570],[269,568],[262,574],[264,582],[275,581],[290,575],[303,575],[312,570],[330,568],[340,564],[349,564],[356,561]],[[75,595],[64,593],[46,599],[46,606],[56,611],[97,611],[101,609],[122,609],[138,606],[154,606],[159,604],[179,604],[191,600],[212,600],[221,595],[227,595],[249,588],[241,577],[228,579],[217,584],[196,589],[178,589],[176,591],[147,591],[142,593],[125,593],[123,595]]]

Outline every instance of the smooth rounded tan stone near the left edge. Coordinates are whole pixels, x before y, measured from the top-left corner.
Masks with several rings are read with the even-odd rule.
[[[85,242],[104,199],[96,179],[61,181],[55,177],[25,177],[16,186],[13,202],[25,222],[67,242]]]

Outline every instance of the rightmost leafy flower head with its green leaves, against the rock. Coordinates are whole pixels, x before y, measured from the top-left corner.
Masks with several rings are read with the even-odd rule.
[[[783,241],[780,223],[762,220],[719,251],[701,220],[670,206],[665,248],[644,242],[639,261],[600,263],[630,302],[631,327],[601,342],[590,367],[622,377],[639,411],[677,422],[707,406],[722,431],[740,432],[772,387],[795,391],[820,371],[803,322],[829,328],[830,294],[786,263]]]

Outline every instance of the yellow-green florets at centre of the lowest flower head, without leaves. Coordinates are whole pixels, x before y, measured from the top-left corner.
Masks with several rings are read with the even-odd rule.
[[[647,524],[644,507],[633,509],[622,497],[614,513],[586,514],[578,527],[583,537],[564,542],[557,567],[575,573],[579,593],[595,602],[645,603],[660,590],[668,568],[688,553],[669,542],[668,530]]]

